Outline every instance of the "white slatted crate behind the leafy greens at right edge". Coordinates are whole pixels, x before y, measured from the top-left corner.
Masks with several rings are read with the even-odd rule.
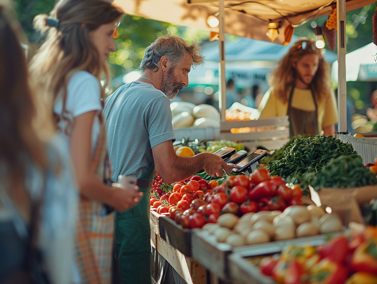
[[[364,164],[374,163],[377,157],[377,137],[353,137],[345,134],[336,134],[345,143],[352,144],[352,147],[363,159]]]

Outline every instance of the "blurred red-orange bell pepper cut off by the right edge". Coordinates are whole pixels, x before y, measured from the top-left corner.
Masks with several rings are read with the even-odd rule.
[[[363,271],[377,275],[377,246],[374,240],[360,244],[352,255],[349,264],[355,272]]]

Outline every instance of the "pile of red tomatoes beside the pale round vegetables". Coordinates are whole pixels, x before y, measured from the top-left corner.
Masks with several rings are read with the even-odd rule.
[[[223,213],[241,216],[262,210],[284,211],[290,205],[302,204],[301,197],[299,186],[288,187],[283,178],[271,177],[268,169],[260,168],[250,177],[230,176],[221,184],[194,175],[174,184],[173,190],[159,199],[152,198],[150,204],[157,213],[192,229],[216,223]]]

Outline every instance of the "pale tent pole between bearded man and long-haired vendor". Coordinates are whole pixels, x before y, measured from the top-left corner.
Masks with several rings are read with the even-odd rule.
[[[226,86],[225,86],[225,8],[224,0],[219,0],[219,111],[220,121],[225,121]]]

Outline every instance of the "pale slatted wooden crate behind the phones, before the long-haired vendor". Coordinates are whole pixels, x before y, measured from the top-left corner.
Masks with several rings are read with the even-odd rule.
[[[231,129],[234,128],[250,132],[232,133]],[[238,141],[250,150],[256,149],[257,146],[276,150],[284,146],[289,138],[288,116],[250,121],[221,121],[220,139]]]

